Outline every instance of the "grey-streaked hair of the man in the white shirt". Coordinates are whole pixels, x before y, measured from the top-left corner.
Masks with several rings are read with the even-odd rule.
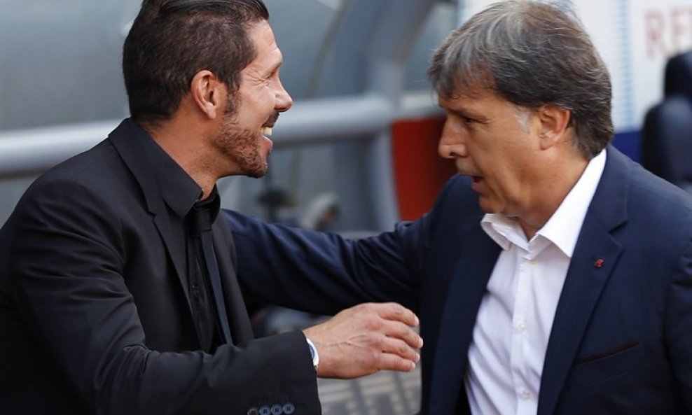
[[[573,11],[555,4],[492,4],[452,31],[428,76],[445,99],[491,90],[524,108],[569,109],[574,145],[587,159],[613,137],[608,70]]]

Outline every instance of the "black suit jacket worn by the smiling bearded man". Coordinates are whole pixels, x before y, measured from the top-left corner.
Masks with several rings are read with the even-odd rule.
[[[235,346],[198,351],[184,222],[146,140],[123,121],[37,179],[0,231],[0,413],[319,413],[303,334],[252,340],[221,216]]]

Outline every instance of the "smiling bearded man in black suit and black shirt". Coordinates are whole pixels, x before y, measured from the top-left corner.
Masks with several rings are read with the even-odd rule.
[[[132,118],[0,230],[2,414],[319,414],[316,376],[415,367],[399,304],[252,338],[215,183],[265,174],[291,106],[267,19],[260,0],[144,1],[123,54]]]

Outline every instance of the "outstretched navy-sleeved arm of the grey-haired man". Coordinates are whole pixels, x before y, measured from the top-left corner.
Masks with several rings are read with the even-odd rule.
[[[316,314],[361,302],[398,302],[417,311],[429,216],[357,241],[271,225],[224,211],[237,274],[251,297]]]

